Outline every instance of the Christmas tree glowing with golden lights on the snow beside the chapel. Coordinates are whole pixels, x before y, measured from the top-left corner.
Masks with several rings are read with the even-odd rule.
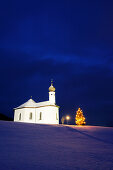
[[[83,112],[80,108],[78,108],[77,112],[76,112],[76,117],[75,117],[75,123],[77,125],[85,125],[85,117],[83,115]]]

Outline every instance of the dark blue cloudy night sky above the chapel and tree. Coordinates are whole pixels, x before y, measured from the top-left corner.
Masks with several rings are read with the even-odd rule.
[[[113,125],[113,1],[2,1],[0,112],[48,100],[51,79],[60,117]]]

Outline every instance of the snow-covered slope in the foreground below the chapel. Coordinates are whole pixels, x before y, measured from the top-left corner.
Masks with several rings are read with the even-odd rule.
[[[0,121],[0,170],[112,170],[113,128]]]

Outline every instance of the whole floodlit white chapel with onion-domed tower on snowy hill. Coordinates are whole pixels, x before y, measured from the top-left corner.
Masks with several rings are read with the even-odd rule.
[[[55,101],[55,87],[51,82],[49,87],[49,100],[36,103],[29,99],[26,103],[14,108],[14,121],[39,123],[39,124],[59,124],[59,106]]]

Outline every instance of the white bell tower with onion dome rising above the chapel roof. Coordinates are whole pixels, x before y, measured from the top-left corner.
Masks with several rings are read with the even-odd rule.
[[[53,81],[51,81],[51,86],[49,87],[49,101],[51,104],[55,104],[55,87],[53,86]]]

